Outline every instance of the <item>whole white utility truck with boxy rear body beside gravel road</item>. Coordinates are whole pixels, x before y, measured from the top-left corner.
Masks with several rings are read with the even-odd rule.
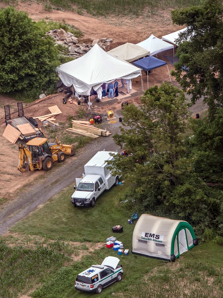
[[[91,206],[95,207],[95,200],[104,190],[110,189],[112,185],[119,183],[121,176],[112,176],[107,168],[106,160],[114,160],[109,153],[111,151],[98,151],[92,159],[84,166],[83,178],[76,178],[76,189],[71,196],[73,206]]]

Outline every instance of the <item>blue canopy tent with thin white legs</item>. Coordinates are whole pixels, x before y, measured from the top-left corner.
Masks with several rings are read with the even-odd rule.
[[[160,66],[166,65],[167,70],[168,70],[168,74],[169,74],[169,69],[168,69],[167,62],[165,62],[163,60],[160,60],[160,59],[157,59],[153,56],[137,60],[137,61],[133,62],[133,65],[147,71],[147,85],[148,85],[148,88],[149,88],[148,71],[150,71],[152,69],[155,69],[155,68],[158,68]],[[171,82],[170,74],[169,74],[169,79],[170,79],[170,82]]]

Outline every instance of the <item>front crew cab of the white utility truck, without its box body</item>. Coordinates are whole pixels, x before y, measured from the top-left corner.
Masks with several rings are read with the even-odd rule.
[[[73,206],[95,206],[95,200],[106,189],[105,181],[100,175],[86,175],[76,186],[71,196]]]

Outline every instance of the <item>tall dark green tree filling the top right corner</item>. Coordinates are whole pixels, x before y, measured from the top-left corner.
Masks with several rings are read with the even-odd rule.
[[[171,75],[189,94],[191,101],[204,97],[212,109],[215,101],[223,103],[223,5],[206,0],[200,6],[172,11],[172,21],[187,26],[178,39],[175,71]],[[186,66],[186,69],[185,69]],[[215,112],[216,110],[214,110]]]

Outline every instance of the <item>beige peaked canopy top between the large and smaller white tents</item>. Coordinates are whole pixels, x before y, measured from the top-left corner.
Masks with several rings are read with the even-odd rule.
[[[108,51],[108,53],[119,57],[127,62],[132,62],[139,58],[150,55],[150,52],[148,50],[143,49],[141,46],[128,42],[121,46],[117,46],[116,48]]]

